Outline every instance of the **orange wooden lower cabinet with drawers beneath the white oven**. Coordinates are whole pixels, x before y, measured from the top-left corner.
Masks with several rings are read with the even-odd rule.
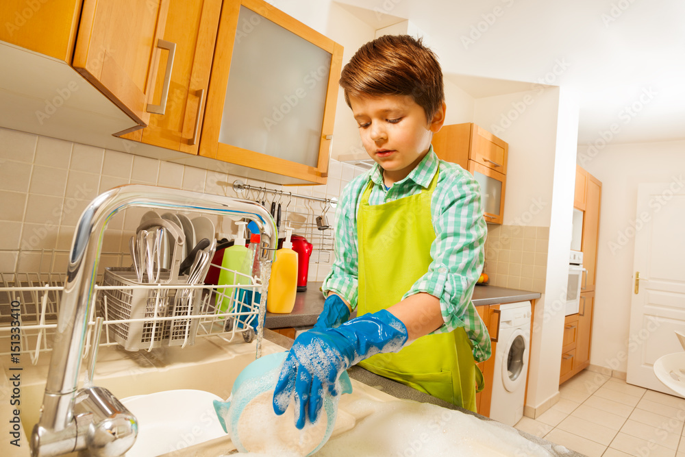
[[[595,292],[583,292],[580,294],[580,312],[566,316],[559,384],[590,365],[594,307]]]

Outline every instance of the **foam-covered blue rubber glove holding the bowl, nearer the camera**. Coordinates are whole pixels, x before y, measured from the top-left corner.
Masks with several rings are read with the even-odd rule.
[[[364,314],[338,328],[316,328],[292,344],[273,393],[273,410],[286,412],[295,399],[295,427],[319,417],[325,390],[338,395],[336,381],[345,369],[382,352],[397,352],[406,344],[407,328],[387,310]]]

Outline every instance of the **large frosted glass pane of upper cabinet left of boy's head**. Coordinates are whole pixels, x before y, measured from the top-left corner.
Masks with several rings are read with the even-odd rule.
[[[316,167],[330,66],[330,53],[241,6],[219,142]]]

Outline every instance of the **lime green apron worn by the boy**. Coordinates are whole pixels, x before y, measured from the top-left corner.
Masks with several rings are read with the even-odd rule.
[[[398,303],[428,271],[430,248],[436,238],[430,203],[437,182],[438,171],[420,194],[373,206],[369,205],[373,182],[364,190],[357,214],[358,315]],[[483,376],[463,328],[422,336],[398,353],[377,354],[359,365],[451,404],[476,410],[476,381],[480,391]]]

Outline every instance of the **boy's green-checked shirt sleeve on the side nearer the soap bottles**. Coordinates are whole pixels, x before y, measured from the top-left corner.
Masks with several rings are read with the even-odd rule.
[[[360,180],[350,182],[338,203],[336,232],[334,236],[335,260],[331,271],[323,280],[323,294],[335,292],[344,297],[352,309],[357,307],[358,297],[358,242],[357,199]]]

